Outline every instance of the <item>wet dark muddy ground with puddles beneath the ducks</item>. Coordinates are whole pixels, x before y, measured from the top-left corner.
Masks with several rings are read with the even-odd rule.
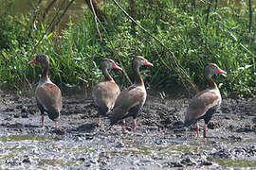
[[[148,95],[137,132],[109,127],[83,94],[64,96],[59,128],[33,96],[0,93],[0,169],[256,169],[256,99],[224,99],[208,138],[182,124],[189,100]],[[202,136],[203,121],[200,122]]]

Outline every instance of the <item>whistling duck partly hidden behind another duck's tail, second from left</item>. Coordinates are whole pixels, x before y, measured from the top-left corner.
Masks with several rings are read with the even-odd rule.
[[[113,109],[116,99],[120,93],[118,84],[108,73],[108,69],[111,68],[121,70],[121,68],[114,62],[114,60],[101,60],[101,71],[105,76],[105,81],[100,82],[94,86],[92,91],[94,103],[98,108],[99,125],[101,125],[101,115],[106,115],[110,110]]]

